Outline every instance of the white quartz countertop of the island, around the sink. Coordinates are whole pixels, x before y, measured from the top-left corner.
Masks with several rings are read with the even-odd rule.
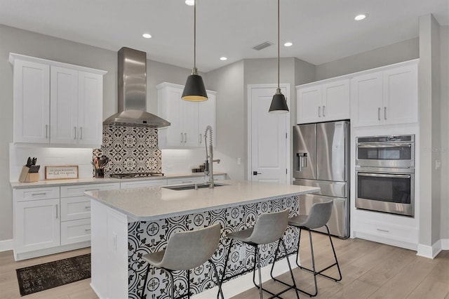
[[[249,180],[221,180],[219,182],[226,185],[199,190],[142,187],[91,191],[85,194],[95,201],[100,201],[102,204],[126,214],[128,221],[133,222],[200,213],[320,190],[319,187],[276,185]]]

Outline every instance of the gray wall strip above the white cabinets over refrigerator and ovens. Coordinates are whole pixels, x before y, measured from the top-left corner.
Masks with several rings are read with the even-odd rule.
[[[420,57],[419,39],[409,39],[396,44],[342,58],[316,66],[316,80],[351,74],[384,65]]]

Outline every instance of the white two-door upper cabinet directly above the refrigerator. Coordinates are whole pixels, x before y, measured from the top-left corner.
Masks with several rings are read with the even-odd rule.
[[[349,119],[349,79],[297,86],[297,124]]]

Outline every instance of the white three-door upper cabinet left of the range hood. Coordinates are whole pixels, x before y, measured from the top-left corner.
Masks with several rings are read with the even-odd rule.
[[[14,142],[102,144],[105,71],[10,53],[14,65]]]

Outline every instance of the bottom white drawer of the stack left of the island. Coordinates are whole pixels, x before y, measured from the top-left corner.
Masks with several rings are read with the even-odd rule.
[[[91,241],[91,219],[61,222],[61,245]]]

